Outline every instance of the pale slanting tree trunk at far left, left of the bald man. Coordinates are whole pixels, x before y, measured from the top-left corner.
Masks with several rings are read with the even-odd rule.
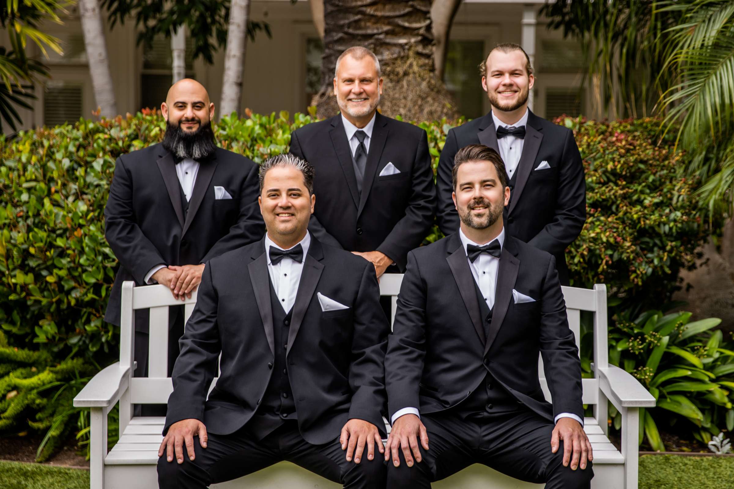
[[[84,45],[87,48],[87,62],[90,65],[95,102],[103,117],[115,117],[117,115],[115,88],[112,86],[112,75],[109,73],[107,46],[97,0],[79,0],[79,16],[84,32]]]

